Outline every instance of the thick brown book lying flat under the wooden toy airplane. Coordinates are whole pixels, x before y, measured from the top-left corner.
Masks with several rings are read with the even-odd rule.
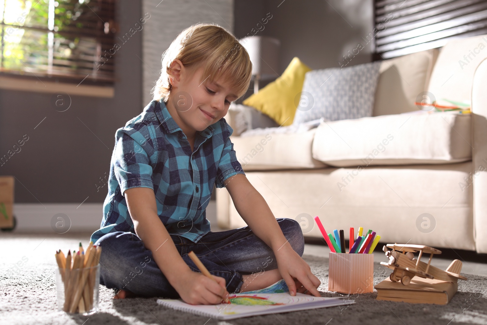
[[[378,300],[403,301],[412,304],[446,305],[457,292],[458,284],[436,279],[414,277],[409,286],[389,278],[375,285]]]

